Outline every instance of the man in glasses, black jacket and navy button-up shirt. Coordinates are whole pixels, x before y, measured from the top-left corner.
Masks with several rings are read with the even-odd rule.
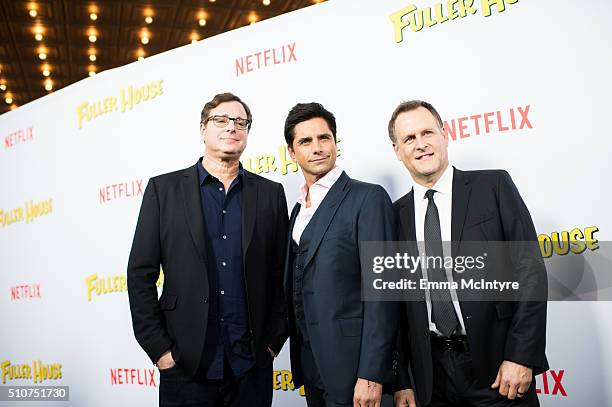
[[[272,403],[272,359],[287,338],[287,202],[282,185],[239,163],[251,120],[240,98],[216,95],[201,115],[204,157],[144,193],[128,294],[162,406]]]

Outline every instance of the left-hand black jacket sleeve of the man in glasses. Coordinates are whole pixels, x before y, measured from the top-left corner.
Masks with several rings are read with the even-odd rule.
[[[153,363],[172,346],[157,300],[162,263],[160,211],[155,179],[147,184],[128,261],[127,285],[134,335]]]

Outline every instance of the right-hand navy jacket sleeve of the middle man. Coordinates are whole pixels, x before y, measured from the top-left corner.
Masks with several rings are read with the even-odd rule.
[[[395,241],[395,215],[389,196],[380,186],[372,187],[361,207],[357,222],[360,242]],[[362,273],[369,261],[360,250]],[[362,282],[370,278],[364,278]],[[362,287],[363,290],[363,287]],[[392,381],[392,358],[397,335],[398,304],[392,301],[364,301],[361,353],[357,376],[377,383]]]

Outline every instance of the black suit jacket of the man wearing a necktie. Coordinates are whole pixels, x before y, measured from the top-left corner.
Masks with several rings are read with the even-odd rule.
[[[414,191],[394,203],[400,241],[416,241]],[[454,169],[451,239],[460,241],[537,242],[529,211],[510,175],[502,170],[460,171]],[[460,250],[460,248],[458,248]],[[453,252],[453,255],[459,253]],[[547,287],[541,256],[513,253],[508,259],[521,280]],[[455,280],[457,281],[457,279]],[[544,295],[546,288],[544,288]],[[544,298],[545,299],[545,298]],[[481,385],[491,385],[503,360],[533,368],[534,374],[548,369],[545,301],[461,301],[461,312],[476,376]],[[412,387],[410,368],[418,400],[431,399],[433,370],[429,321],[425,302],[405,302],[400,310],[397,390]]]

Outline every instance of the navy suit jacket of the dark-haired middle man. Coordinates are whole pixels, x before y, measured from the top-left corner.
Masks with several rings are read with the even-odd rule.
[[[291,230],[297,209],[298,205],[291,215]],[[321,202],[317,214],[319,218],[304,263],[304,275],[312,273],[309,280],[313,285],[303,287],[304,314],[325,390],[333,401],[350,402],[358,377],[376,382],[392,379],[397,304],[362,301],[359,242],[395,240],[393,207],[382,187],[352,180],[343,172]],[[291,250],[288,250],[285,291],[291,370],[293,381],[299,387],[303,378],[300,337],[293,315],[292,265]]]

